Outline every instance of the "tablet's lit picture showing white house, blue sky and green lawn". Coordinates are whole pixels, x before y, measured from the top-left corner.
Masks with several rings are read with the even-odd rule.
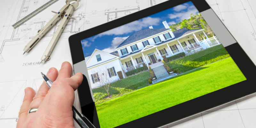
[[[118,15],[108,13],[108,18]],[[101,128],[246,80],[192,2],[81,43]]]

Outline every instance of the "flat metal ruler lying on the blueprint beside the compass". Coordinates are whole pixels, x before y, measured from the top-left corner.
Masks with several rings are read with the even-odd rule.
[[[20,25],[22,25],[23,23],[25,23],[26,21],[28,21],[29,19],[31,19],[32,17],[37,15],[39,12],[42,12],[44,9],[46,9],[47,7],[49,7],[50,5],[52,5],[53,3],[57,2],[57,1],[59,1],[59,0],[50,0],[49,2],[47,2],[46,4],[41,6],[40,8],[36,9],[34,12],[28,14],[26,17],[22,18],[20,21],[13,24],[12,27],[13,28],[18,28]]]

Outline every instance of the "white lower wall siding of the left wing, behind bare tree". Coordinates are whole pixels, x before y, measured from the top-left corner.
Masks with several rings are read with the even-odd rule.
[[[92,75],[93,73],[96,73],[97,70],[99,70],[99,69],[105,69],[105,66],[106,66],[106,65],[108,66],[108,68],[112,68],[112,67],[115,68],[116,76],[112,76],[112,77],[114,77],[114,78],[113,78],[113,81],[119,80],[119,76],[118,76],[117,72],[118,72],[118,71],[122,71],[122,69],[120,68],[119,60],[116,59],[116,60],[107,62],[107,63],[105,63],[105,64],[102,64],[102,65],[99,65],[99,66],[96,66],[96,67],[87,69],[88,75],[89,75],[89,77],[90,77],[89,79],[90,79],[90,83],[91,83],[91,87],[92,87],[92,88],[100,87],[100,82],[97,82],[97,83],[94,83],[94,84],[93,84],[93,83],[92,83],[91,75]],[[100,76],[100,75],[102,75],[102,74],[99,74],[99,73],[98,73],[98,75]],[[107,78],[109,78],[109,75],[108,75],[108,74],[104,74],[104,75],[107,75]],[[112,77],[111,77],[111,78],[112,78]]]

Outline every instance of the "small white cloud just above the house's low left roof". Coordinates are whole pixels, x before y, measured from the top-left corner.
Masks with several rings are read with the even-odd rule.
[[[112,40],[112,44],[110,47],[103,49],[102,51],[104,52],[115,52],[116,51],[116,47],[119,46],[122,42],[124,42],[125,39],[127,39],[129,36],[126,37],[115,37]]]

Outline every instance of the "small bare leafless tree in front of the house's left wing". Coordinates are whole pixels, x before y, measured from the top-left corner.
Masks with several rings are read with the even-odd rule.
[[[106,92],[108,93],[108,89],[109,86],[111,84],[111,82],[113,82],[114,76],[113,76],[113,72],[111,74],[112,68],[111,66],[109,66],[109,64],[105,64],[104,66],[95,68],[91,70],[91,73],[94,76],[97,76],[97,78],[94,78],[94,80],[97,80],[98,82],[96,82],[95,84],[100,85],[100,86],[104,86]],[[96,74],[96,75],[94,75]],[[109,77],[109,74],[112,75],[112,77]],[[109,97],[109,93],[108,93],[108,97]]]

